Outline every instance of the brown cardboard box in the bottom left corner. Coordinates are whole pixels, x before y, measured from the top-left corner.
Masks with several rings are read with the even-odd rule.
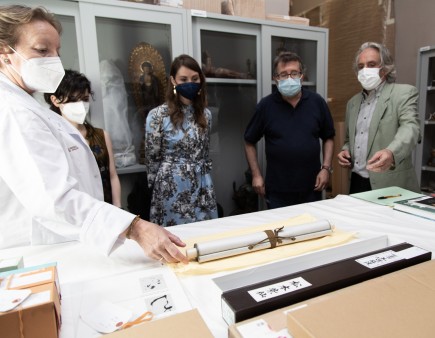
[[[60,297],[55,283],[30,287],[32,294],[15,309],[0,312],[0,336],[7,338],[57,338]]]

